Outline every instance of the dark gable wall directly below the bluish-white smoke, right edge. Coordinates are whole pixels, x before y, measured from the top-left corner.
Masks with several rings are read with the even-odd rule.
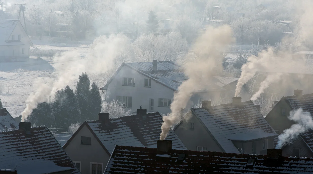
[[[303,142],[302,138],[297,138],[292,142],[292,144],[285,146],[283,148],[283,156],[294,156],[294,148],[300,148],[300,157],[313,157],[312,151],[310,151],[309,147],[307,147],[307,145]]]

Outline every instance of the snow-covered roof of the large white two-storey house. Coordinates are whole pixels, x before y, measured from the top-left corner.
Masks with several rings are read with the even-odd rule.
[[[152,62],[133,62],[133,63],[124,63],[121,67],[115,72],[117,74],[121,68],[126,65],[131,69],[138,71],[140,74],[147,76],[148,78],[155,80],[156,82],[167,86],[172,90],[177,90],[178,87],[182,84],[184,80],[187,80],[185,73],[182,71],[181,66],[177,65],[172,61],[158,61],[157,62],[157,71],[152,73]],[[108,81],[108,83],[100,88],[107,89],[110,82],[115,78],[113,77]],[[214,76],[210,84],[205,85],[203,88],[206,91],[223,91],[223,86],[228,85],[239,78],[233,77],[218,77]]]

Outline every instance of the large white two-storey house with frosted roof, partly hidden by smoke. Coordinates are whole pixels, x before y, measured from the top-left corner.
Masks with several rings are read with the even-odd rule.
[[[167,114],[171,112],[174,92],[186,79],[182,68],[172,61],[123,63],[100,89],[102,92],[105,90],[106,101],[117,100],[132,112],[136,111],[133,108],[142,105],[149,112]],[[233,96],[238,79],[212,77],[212,83],[194,94],[192,102],[195,104],[200,98],[219,99],[221,96]]]

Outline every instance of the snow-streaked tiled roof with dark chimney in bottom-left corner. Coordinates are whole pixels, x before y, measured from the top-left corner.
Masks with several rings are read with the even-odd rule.
[[[17,130],[0,132],[0,154],[0,169],[17,173],[80,174],[49,129],[31,128],[30,122],[20,122]]]

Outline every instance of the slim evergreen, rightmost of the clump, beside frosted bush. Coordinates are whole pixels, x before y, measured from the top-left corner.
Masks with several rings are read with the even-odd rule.
[[[101,96],[99,92],[98,86],[93,82],[91,84],[91,89],[90,89],[90,117],[89,119],[91,120],[97,120],[98,119],[98,114],[101,111]]]

